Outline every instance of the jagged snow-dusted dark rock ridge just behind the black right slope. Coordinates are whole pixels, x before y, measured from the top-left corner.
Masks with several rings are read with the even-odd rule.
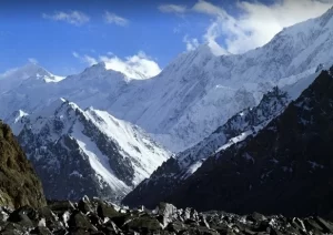
[[[150,208],[157,206],[191,176],[206,157],[219,149],[226,149],[233,143],[244,140],[250,134],[255,135],[273,117],[281,114],[289,102],[287,93],[275,86],[263,95],[258,106],[248,108],[235,114],[203,141],[164,162],[122,202],[130,206],[141,204]]]

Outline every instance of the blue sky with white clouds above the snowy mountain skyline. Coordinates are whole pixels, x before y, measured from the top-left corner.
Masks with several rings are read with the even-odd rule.
[[[331,4],[311,0],[4,0],[0,1],[0,73],[28,60],[60,75],[101,60],[111,60],[114,67],[129,61],[141,65],[140,60],[145,60],[151,62],[147,67],[153,67],[150,74],[157,72],[157,64],[163,69],[200,43],[219,47],[219,54],[260,47],[283,27],[317,17]],[[295,9],[300,12],[294,13]],[[264,25],[258,25],[263,21]]]

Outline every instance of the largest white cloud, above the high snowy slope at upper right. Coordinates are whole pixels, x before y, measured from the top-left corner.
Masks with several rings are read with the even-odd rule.
[[[323,14],[333,0],[276,0],[265,6],[258,1],[239,1],[241,11],[238,18],[223,8],[208,1],[198,1],[192,11],[213,16],[215,20],[208,27],[203,37],[209,44],[216,47],[219,53],[243,53],[268,43],[283,28]],[[223,41],[219,47],[216,40]]]

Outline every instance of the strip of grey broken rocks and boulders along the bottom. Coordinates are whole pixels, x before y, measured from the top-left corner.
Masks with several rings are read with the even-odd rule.
[[[0,233],[16,234],[333,234],[333,223],[321,217],[286,218],[259,213],[239,216],[198,213],[161,203],[155,210],[128,210],[98,198],[78,203],[49,202],[39,210],[0,208]]]

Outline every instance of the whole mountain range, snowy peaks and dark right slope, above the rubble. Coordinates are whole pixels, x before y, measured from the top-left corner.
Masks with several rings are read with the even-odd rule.
[[[200,45],[150,79],[30,63],[0,75],[0,117],[49,198],[329,215],[332,34],[333,8],[243,54]]]

